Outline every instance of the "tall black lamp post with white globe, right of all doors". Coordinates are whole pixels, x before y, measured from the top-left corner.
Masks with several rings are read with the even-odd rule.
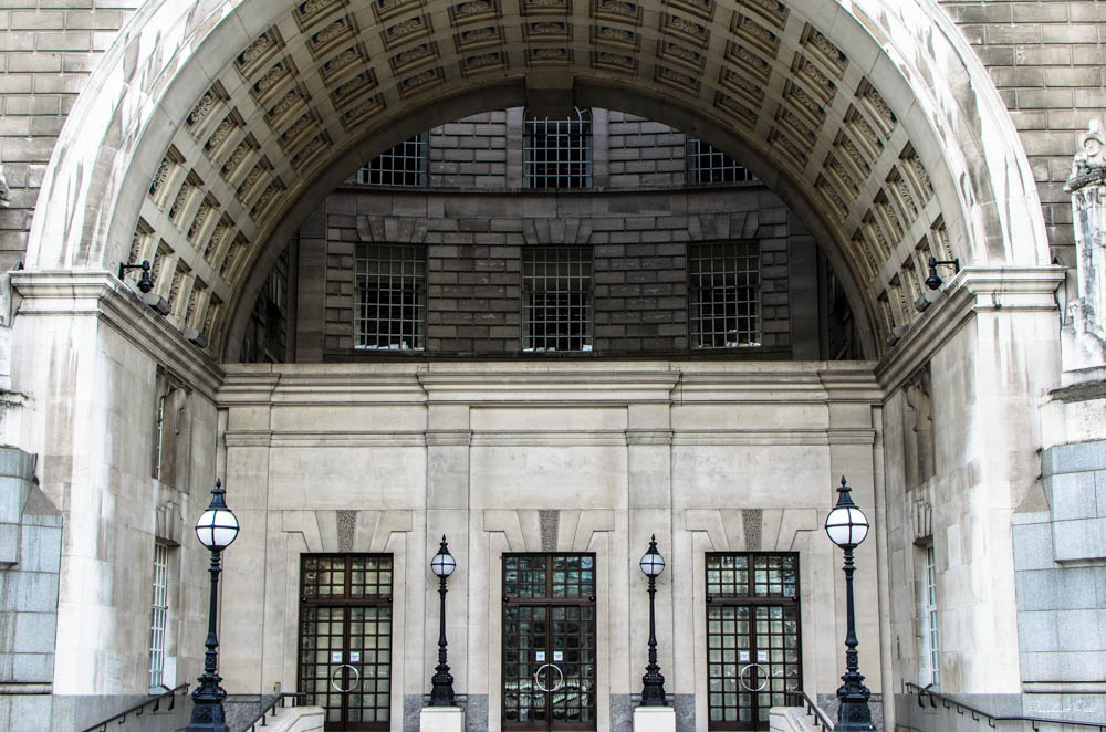
[[[849,496],[851,489],[841,478],[837,489],[837,505],[826,516],[826,534],[837,546],[845,550],[845,675],[841,677],[844,683],[837,689],[841,707],[837,709],[835,732],[869,732],[872,710],[868,709],[868,698],[872,692],[864,686],[864,677],[859,671],[859,660],[856,652],[856,618],[853,609],[853,550],[860,545],[868,535],[868,520],[864,512],[856,508]]]

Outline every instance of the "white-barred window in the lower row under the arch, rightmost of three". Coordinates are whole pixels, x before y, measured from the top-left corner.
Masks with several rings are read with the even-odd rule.
[[[760,345],[760,244],[723,242],[689,248],[691,345]]]

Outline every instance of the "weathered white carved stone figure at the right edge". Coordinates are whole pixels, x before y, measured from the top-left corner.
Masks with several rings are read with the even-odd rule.
[[[1076,296],[1063,330],[1065,370],[1106,366],[1106,156],[1098,119],[1079,136],[1064,190],[1072,194]]]

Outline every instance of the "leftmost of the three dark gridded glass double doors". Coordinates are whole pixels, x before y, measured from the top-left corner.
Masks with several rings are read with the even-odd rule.
[[[299,689],[325,730],[387,730],[392,556],[310,554],[300,562]]]

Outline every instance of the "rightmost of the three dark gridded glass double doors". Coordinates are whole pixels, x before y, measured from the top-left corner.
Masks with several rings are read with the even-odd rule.
[[[800,703],[797,554],[707,555],[710,730],[768,730],[773,707]]]

